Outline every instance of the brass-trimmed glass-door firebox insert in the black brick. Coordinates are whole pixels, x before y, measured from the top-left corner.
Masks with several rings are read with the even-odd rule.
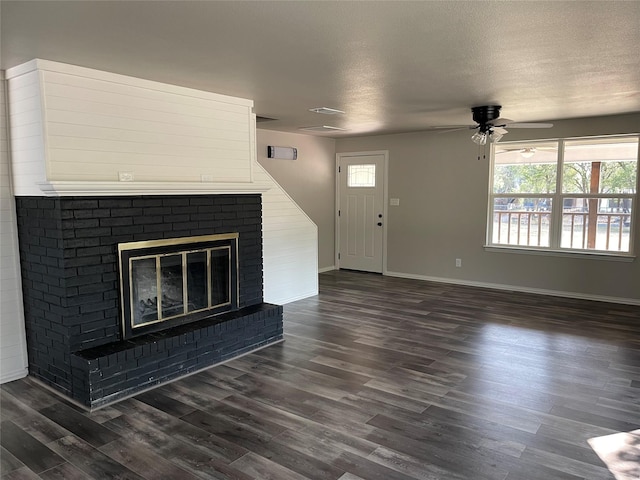
[[[118,245],[122,335],[238,308],[238,234]]]

